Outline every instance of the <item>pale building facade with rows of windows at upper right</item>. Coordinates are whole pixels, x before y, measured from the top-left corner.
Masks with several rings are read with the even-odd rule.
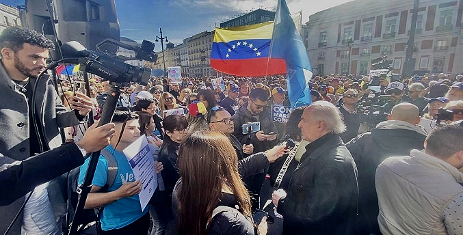
[[[383,56],[403,72],[413,2],[356,0],[311,15],[304,44],[314,74],[368,74]],[[462,11],[463,1],[419,1],[414,70],[463,72]]]

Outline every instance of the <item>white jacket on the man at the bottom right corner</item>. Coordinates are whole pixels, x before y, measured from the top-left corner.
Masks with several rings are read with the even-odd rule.
[[[376,169],[382,234],[463,232],[463,173],[419,150],[393,156]],[[452,223],[453,222],[453,223]]]

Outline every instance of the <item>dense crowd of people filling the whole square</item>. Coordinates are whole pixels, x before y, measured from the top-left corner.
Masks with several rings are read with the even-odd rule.
[[[51,77],[38,79],[47,38],[10,28],[0,47],[1,233],[60,234],[62,174],[80,169],[81,184],[84,156],[98,150],[85,208],[102,211],[100,234],[266,234],[274,217],[282,234],[463,232],[462,74],[317,75],[311,102],[276,122],[272,107],[291,106],[284,76],[225,76],[223,86],[151,77],[127,87],[90,77],[88,94],[76,91],[83,78],[63,76],[56,92]],[[115,88],[111,124],[89,126]],[[140,137],[158,182],[144,210],[122,152]],[[261,193],[266,179],[272,198]],[[265,199],[268,215],[254,223]]]

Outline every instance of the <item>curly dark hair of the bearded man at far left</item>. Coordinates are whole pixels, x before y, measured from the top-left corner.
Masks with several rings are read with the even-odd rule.
[[[23,49],[23,44],[25,43],[40,46],[44,49],[55,49],[53,41],[31,29],[10,27],[3,29],[0,33],[0,49],[6,47],[16,53]]]

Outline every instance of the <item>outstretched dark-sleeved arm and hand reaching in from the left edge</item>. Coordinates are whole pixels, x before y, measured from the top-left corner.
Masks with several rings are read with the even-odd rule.
[[[35,186],[82,165],[83,152],[79,148],[84,152],[96,152],[105,148],[114,133],[114,124],[96,127],[97,124],[98,122],[88,128],[81,141],[59,146],[23,161],[14,161],[0,154],[0,206],[9,205],[34,189]],[[2,227],[0,226],[0,230]]]

